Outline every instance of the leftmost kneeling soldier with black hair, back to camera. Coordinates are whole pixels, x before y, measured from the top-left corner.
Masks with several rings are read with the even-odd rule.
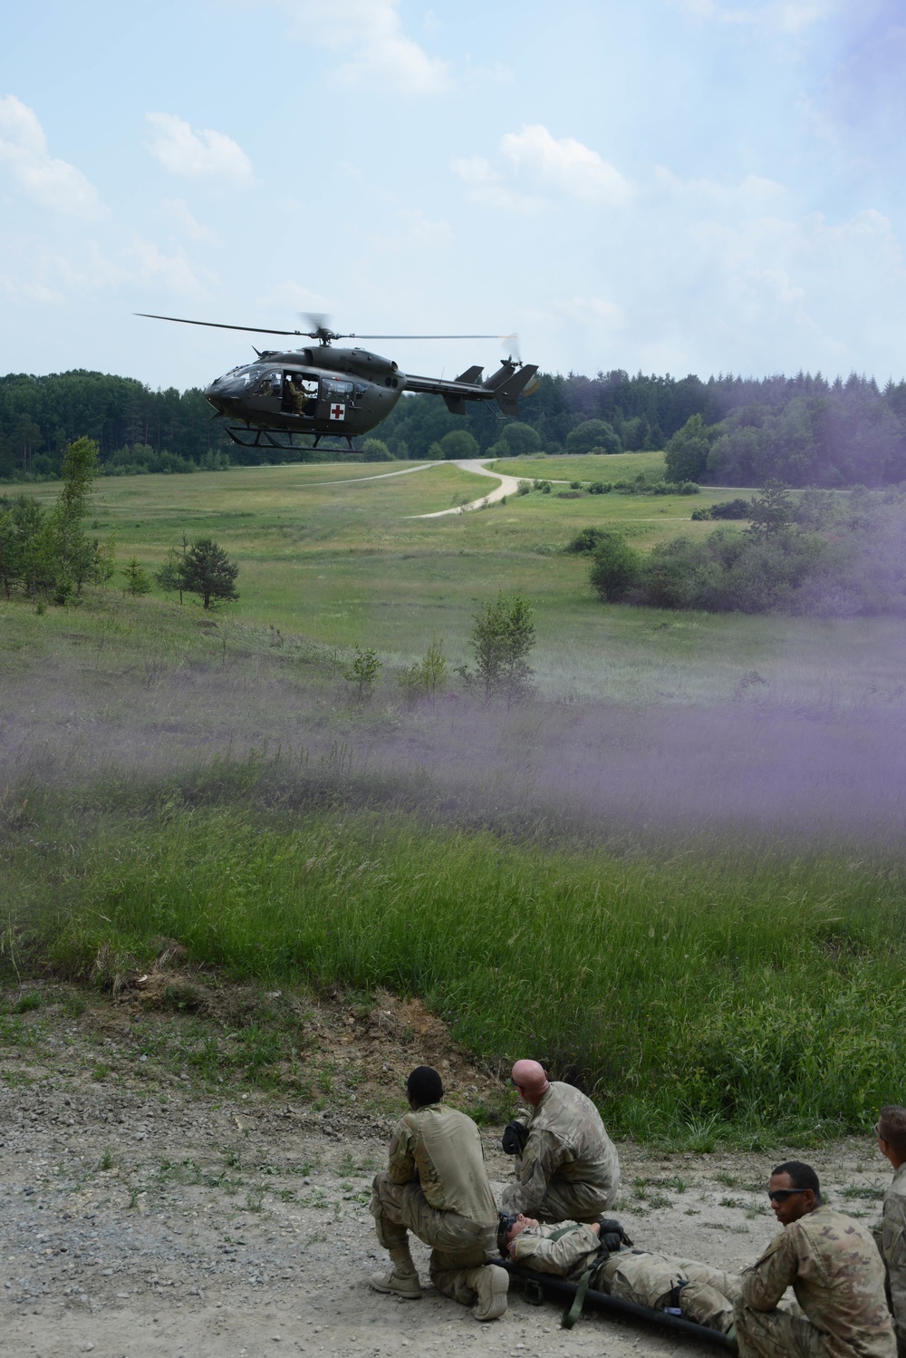
[[[372,1215],[392,1268],[373,1274],[376,1291],[410,1301],[422,1296],[408,1230],[431,1247],[434,1286],[473,1306],[476,1320],[506,1312],[509,1277],[490,1260],[496,1253],[498,1211],[484,1172],[479,1128],[454,1108],[442,1108],[444,1084],[431,1066],[408,1078],[410,1112],[393,1128],[389,1165],[374,1176]]]

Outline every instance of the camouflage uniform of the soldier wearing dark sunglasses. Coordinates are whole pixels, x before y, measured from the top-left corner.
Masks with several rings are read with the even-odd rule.
[[[789,1286],[802,1312],[777,1309]],[[871,1232],[830,1207],[784,1226],[746,1268],[735,1323],[741,1358],[897,1355]]]

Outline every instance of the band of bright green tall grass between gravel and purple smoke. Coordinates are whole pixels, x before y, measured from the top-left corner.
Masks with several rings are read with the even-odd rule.
[[[20,967],[88,976],[176,938],[233,976],[419,994],[480,1057],[541,1058],[643,1141],[816,1139],[902,1100],[901,865],[552,849],[267,812],[239,785],[134,811],[47,803],[53,839],[14,837]]]

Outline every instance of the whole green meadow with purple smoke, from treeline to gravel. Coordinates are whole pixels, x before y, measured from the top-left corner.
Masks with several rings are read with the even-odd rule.
[[[121,559],[202,532],[239,559],[213,617],[0,604],[7,974],[115,986],[176,940],[222,976],[418,994],[646,1142],[869,1127],[906,1085],[902,629],[608,607],[562,551],[708,531],[704,496],[419,520],[487,479],[370,470],[102,482]],[[498,588],[536,608],[534,695],[407,706],[400,667],[433,634],[467,661]]]

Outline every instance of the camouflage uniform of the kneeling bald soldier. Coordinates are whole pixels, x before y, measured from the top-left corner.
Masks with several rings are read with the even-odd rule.
[[[537,1107],[518,1120],[529,1139],[517,1183],[500,1195],[505,1211],[538,1221],[594,1221],[613,1205],[620,1160],[590,1099],[553,1080]]]

